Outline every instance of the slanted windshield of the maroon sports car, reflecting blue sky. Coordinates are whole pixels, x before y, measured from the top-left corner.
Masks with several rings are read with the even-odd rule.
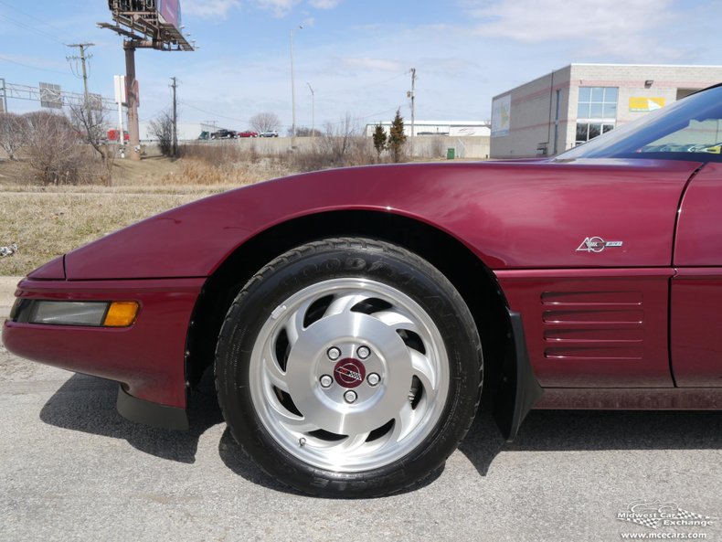
[[[667,158],[722,162],[722,86],[697,92],[559,154],[579,158]]]

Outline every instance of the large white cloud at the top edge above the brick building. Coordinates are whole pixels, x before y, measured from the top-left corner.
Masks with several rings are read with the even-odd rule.
[[[660,28],[680,13],[673,0],[465,0],[477,34],[522,43],[566,41],[598,53],[633,55],[659,47]],[[642,51],[636,51],[637,53]],[[660,52],[657,49],[655,52]]]

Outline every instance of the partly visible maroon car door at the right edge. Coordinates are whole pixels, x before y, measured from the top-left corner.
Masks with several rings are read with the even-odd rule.
[[[674,247],[671,296],[674,379],[722,386],[722,164],[709,163],[685,192]]]

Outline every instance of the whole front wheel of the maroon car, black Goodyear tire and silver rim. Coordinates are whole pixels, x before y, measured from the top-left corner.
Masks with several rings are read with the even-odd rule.
[[[325,288],[331,293],[322,295]],[[301,304],[294,308],[293,303]],[[378,335],[364,331],[356,336],[346,329],[357,322],[364,330],[376,329],[379,320],[387,327]],[[293,327],[302,321],[298,329]],[[323,342],[323,333],[336,330],[343,337],[337,341],[339,356],[346,357],[332,373],[339,356],[332,352],[335,343]],[[362,350],[366,343],[371,354]],[[300,354],[322,344],[313,355]],[[326,349],[328,345],[333,346]],[[407,361],[419,358],[420,363]],[[410,379],[404,372],[408,366]],[[375,387],[377,379],[369,372],[373,367],[381,367],[381,384]],[[456,450],[479,404],[483,360],[466,303],[428,261],[378,240],[324,239],[271,261],[239,292],[218,337],[215,369],[228,427],[262,470],[307,494],[370,497],[419,482]],[[327,375],[317,377],[316,372],[324,371],[333,374],[331,384]],[[408,399],[401,400],[398,389],[404,385],[410,389]],[[306,387],[312,391],[306,393]],[[357,402],[349,403],[349,398]],[[282,410],[279,405],[288,410],[281,412],[282,423],[274,418]],[[386,420],[397,406],[398,415]],[[295,421],[297,414],[302,421]],[[341,430],[317,421],[326,418],[357,425]],[[409,420],[417,418],[409,430]],[[287,426],[286,419],[294,424]],[[305,421],[318,429],[308,430]],[[372,423],[377,429],[371,430]],[[334,452],[336,441],[344,445]]]

